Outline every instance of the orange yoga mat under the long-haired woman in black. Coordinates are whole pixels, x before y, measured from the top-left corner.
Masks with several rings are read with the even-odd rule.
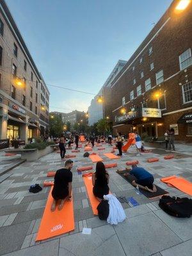
[[[83,175],[83,179],[86,186],[86,191],[90,198],[93,214],[98,215],[97,206],[99,205],[99,200],[97,200],[97,198],[93,195],[92,173],[87,173],[86,175]]]

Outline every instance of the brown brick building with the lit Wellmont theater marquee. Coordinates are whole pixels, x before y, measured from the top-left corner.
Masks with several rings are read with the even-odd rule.
[[[173,1],[111,83],[113,132],[192,141],[192,1]]]

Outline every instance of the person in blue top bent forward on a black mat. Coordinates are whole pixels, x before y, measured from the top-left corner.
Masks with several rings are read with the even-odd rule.
[[[138,186],[141,189],[145,189],[149,192],[157,192],[154,183],[154,177],[151,173],[147,172],[144,168],[132,165],[132,169],[127,169],[129,173],[125,173],[124,176],[127,177],[129,174],[134,175],[136,180],[132,180],[132,186]]]

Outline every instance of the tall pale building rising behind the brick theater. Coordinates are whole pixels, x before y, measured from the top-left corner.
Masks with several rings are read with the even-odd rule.
[[[92,99],[88,107],[88,125],[93,125],[97,123],[99,119],[106,116],[111,120],[111,83],[120,70],[122,70],[125,63],[127,63],[127,61],[118,60],[108,79],[103,84],[102,88],[100,88],[99,93]],[[100,102],[98,102],[99,97]]]

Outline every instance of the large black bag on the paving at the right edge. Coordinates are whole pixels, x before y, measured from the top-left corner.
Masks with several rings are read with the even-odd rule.
[[[177,218],[190,218],[192,215],[192,199],[187,197],[162,196],[159,200],[159,207]]]

